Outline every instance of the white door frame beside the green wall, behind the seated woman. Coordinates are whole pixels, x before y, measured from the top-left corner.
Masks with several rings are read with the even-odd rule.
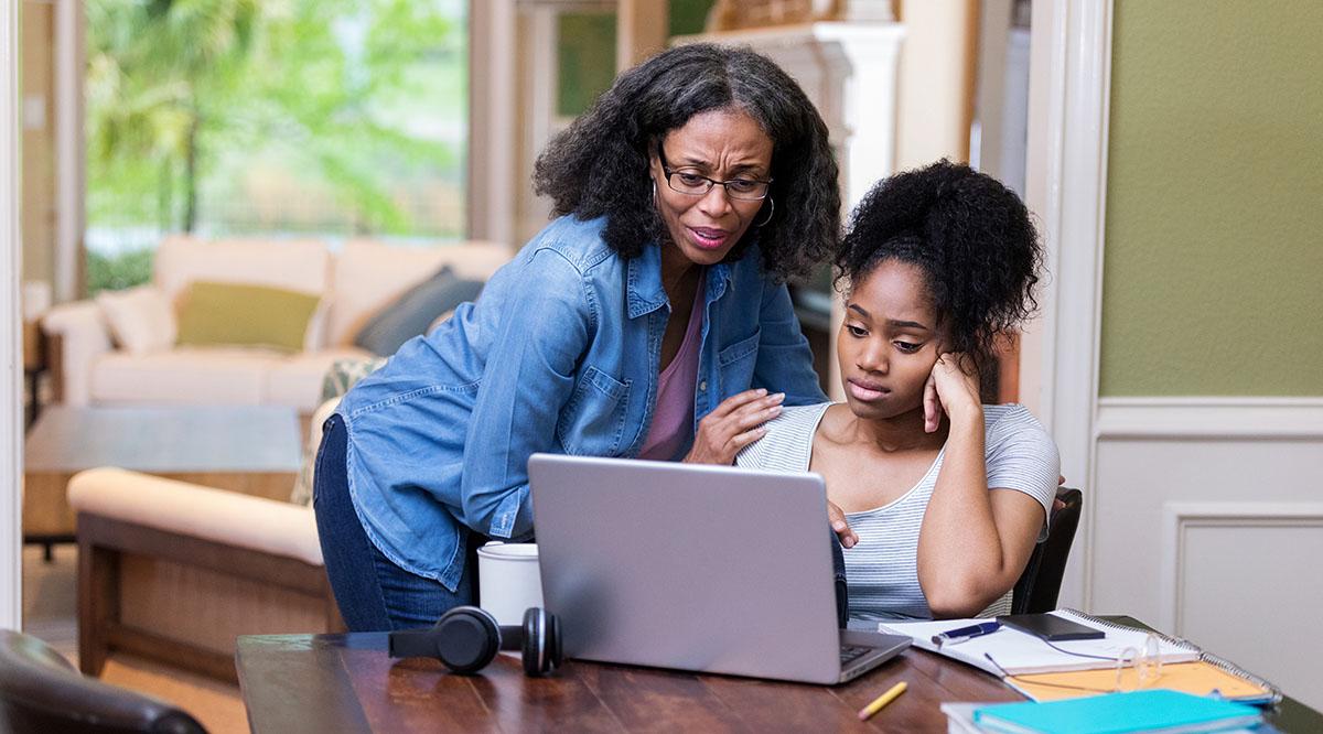
[[[1061,604],[1091,603],[1094,435],[1102,247],[1111,89],[1111,0],[1033,4],[1029,153],[1025,193],[1039,218],[1050,276],[1041,317],[1027,329],[1020,395],[1061,450],[1068,484],[1084,489],[1084,522],[1061,587]]]

